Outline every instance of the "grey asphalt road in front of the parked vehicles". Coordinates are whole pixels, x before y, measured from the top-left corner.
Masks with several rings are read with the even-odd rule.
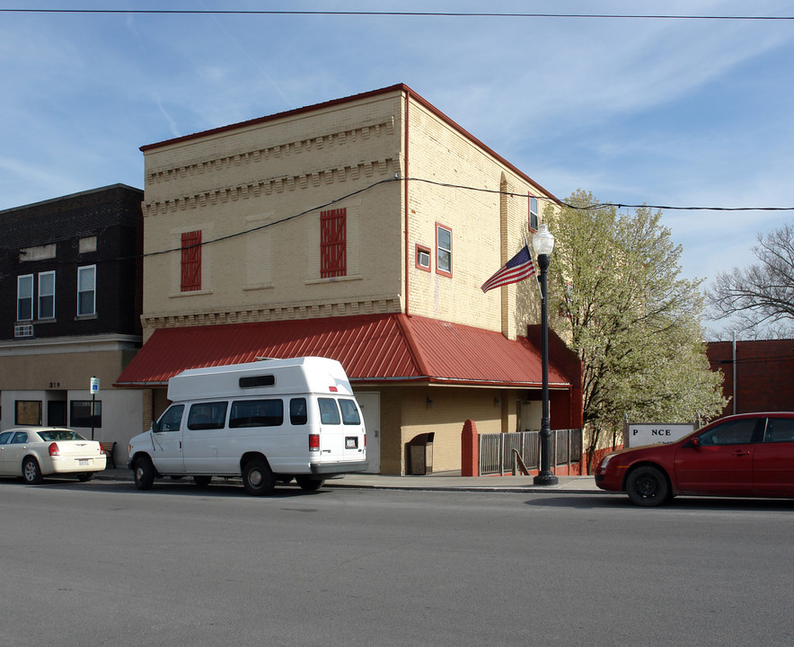
[[[790,645],[794,502],[0,480],[0,645]]]

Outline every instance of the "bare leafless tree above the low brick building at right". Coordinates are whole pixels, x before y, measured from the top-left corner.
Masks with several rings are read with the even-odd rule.
[[[710,317],[731,318],[737,332],[771,328],[791,332],[794,323],[794,226],[758,235],[757,263],[719,272],[708,291]]]

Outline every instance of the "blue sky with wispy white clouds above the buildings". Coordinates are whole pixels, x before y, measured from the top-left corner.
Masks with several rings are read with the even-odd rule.
[[[791,16],[754,0],[0,0],[0,9]],[[0,209],[122,182],[140,146],[407,84],[557,198],[794,207],[794,20],[0,12]],[[682,275],[790,211],[665,209]]]

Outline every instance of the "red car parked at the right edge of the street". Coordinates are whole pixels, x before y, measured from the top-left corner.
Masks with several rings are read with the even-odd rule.
[[[641,506],[679,494],[794,498],[794,412],[741,413],[669,445],[613,452],[595,484]]]

